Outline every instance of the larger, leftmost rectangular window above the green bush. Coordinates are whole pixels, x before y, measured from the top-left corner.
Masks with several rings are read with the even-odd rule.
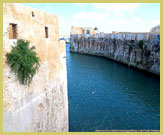
[[[17,24],[9,24],[9,39],[17,39]]]

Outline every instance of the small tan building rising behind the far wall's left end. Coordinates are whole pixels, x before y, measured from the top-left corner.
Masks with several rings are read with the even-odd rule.
[[[71,34],[97,34],[99,30],[97,27],[71,27]]]

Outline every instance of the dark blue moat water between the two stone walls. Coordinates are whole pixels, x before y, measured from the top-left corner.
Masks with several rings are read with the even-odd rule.
[[[69,131],[160,129],[160,80],[66,45]]]

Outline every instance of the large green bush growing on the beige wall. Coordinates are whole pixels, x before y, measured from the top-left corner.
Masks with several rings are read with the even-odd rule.
[[[35,47],[29,47],[29,43],[29,41],[18,39],[15,47],[12,46],[11,52],[6,54],[11,70],[16,73],[22,84],[28,85],[40,66],[40,60],[34,52]]]

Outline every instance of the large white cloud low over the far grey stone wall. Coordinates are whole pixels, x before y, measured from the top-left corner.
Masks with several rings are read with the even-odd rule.
[[[118,12],[117,12],[118,13]],[[119,12],[120,13],[120,12]],[[123,14],[109,14],[107,11],[99,12],[79,12],[73,16],[72,25],[81,27],[98,27],[101,32],[111,31],[130,31],[129,29],[136,30],[134,26],[137,23],[142,23],[141,19],[137,16],[125,18]],[[130,26],[130,28],[128,28]]]

